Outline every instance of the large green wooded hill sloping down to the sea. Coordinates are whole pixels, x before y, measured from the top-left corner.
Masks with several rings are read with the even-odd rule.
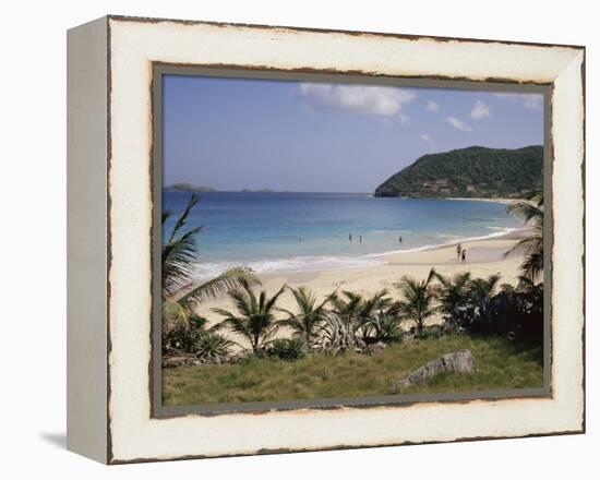
[[[375,196],[517,199],[542,188],[543,147],[471,146],[423,155],[375,189]]]

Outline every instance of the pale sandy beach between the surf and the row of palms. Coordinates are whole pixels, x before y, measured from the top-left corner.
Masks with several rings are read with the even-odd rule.
[[[467,262],[458,262],[456,245],[434,248],[424,251],[394,253],[383,257],[381,265],[367,267],[339,268],[312,272],[285,272],[262,274],[262,288],[271,296],[284,284],[290,287],[304,286],[324,299],[334,290],[351,290],[364,296],[371,296],[382,289],[387,289],[392,298],[399,298],[394,284],[403,276],[424,278],[430,268],[434,267],[443,275],[454,275],[470,271],[473,277],[487,277],[500,273],[501,284],[516,284],[520,255],[504,256],[515,242],[523,238],[527,230],[517,230],[503,237],[463,242],[467,249]],[[295,311],[295,300],[291,293],[279,297],[278,305]],[[197,313],[206,316],[211,324],[220,317],[211,309],[221,308],[233,310],[227,297],[204,301],[197,308]],[[280,331],[280,335],[286,335]],[[237,338],[236,338],[237,340]]]

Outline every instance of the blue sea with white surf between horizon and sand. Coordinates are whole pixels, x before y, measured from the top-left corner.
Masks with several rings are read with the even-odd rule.
[[[181,212],[189,197],[164,192],[163,208]],[[204,227],[199,279],[239,265],[257,273],[376,265],[388,253],[497,237],[521,226],[495,202],[358,193],[211,192],[200,199],[187,225]]]

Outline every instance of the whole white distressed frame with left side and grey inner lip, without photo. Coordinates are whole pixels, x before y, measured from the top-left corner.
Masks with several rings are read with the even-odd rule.
[[[583,47],[107,16],[69,31],[68,60],[69,449],[121,464],[585,431]],[[197,69],[543,93],[544,388],[164,408],[156,82]]]

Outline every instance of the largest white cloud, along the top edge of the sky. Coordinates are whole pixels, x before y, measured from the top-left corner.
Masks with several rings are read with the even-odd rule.
[[[329,108],[377,117],[400,116],[403,106],[417,97],[415,92],[406,88],[324,83],[301,83],[299,92],[315,109]],[[404,124],[403,117],[399,119]]]

